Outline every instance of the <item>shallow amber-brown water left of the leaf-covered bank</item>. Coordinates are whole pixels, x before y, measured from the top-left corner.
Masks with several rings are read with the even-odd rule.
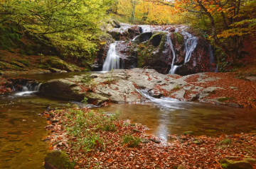
[[[43,168],[49,143],[41,139],[48,131],[38,114],[47,106],[61,108],[67,102],[36,95],[0,97],[0,168]]]

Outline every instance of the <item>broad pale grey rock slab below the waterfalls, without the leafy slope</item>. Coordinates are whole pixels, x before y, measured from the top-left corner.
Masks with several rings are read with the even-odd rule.
[[[99,105],[106,101],[144,102],[145,98],[138,89],[146,89],[156,98],[164,95],[178,100],[199,99],[204,102],[223,104],[218,101],[218,98],[207,98],[208,95],[223,88],[214,86],[212,83],[220,79],[219,77],[210,77],[206,73],[178,76],[159,74],[154,69],[135,68],[115,69],[105,74],[94,73],[90,75],[90,78],[87,82],[83,75],[51,80],[41,86],[40,93],[78,101],[87,97],[89,101],[94,101],[96,105]],[[190,78],[193,78],[193,81],[189,81]]]

